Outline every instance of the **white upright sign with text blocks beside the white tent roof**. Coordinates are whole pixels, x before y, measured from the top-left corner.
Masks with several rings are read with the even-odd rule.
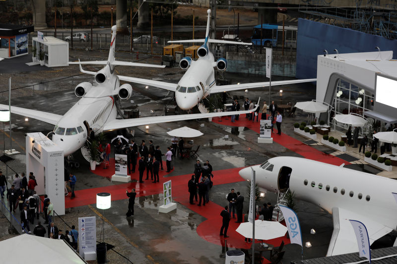
[[[93,254],[84,254],[87,252],[96,253],[96,217],[78,217],[78,244],[79,244],[79,253],[80,256],[83,257],[86,261],[94,261],[96,256]],[[86,258],[87,257],[87,258]],[[91,258],[88,260],[88,258]]]

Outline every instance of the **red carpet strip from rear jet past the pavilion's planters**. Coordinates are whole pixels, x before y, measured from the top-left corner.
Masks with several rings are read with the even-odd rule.
[[[219,118],[213,118],[212,122],[220,124],[220,125],[226,125],[226,126],[248,127],[249,129],[251,129],[259,134],[259,122],[249,121],[247,118],[245,118],[244,115],[240,115],[239,120],[234,123],[231,122],[230,118],[227,120],[222,119],[222,122],[219,122]],[[293,129],[293,128],[285,127],[281,123],[281,131],[283,131],[283,129]],[[275,127],[275,124],[274,124],[274,132],[277,132],[277,128]],[[312,148],[312,147],[300,142],[299,140],[297,140],[293,137],[290,137],[282,132],[281,132],[281,135],[277,135],[277,133],[272,133],[272,137],[273,137],[273,142],[280,144],[281,146],[303,156],[304,158],[309,158],[309,159],[333,164],[336,166],[339,166],[342,163],[345,163],[346,165],[350,164],[349,162],[347,162],[343,159],[336,158],[332,155],[328,155],[328,154],[325,154],[324,152],[316,150],[315,148]]]

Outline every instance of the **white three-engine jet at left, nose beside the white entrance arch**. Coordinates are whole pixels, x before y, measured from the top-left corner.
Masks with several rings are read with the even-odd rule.
[[[132,87],[130,84],[123,84],[120,86],[119,77],[114,74],[114,67],[116,65],[144,67],[164,66],[115,60],[116,26],[112,27],[112,31],[112,41],[107,61],[73,62],[75,64],[104,64],[105,67],[95,73],[94,84],[83,82],[76,86],[74,94],[76,97],[80,98],[80,100],[64,115],[11,106],[11,113],[35,118],[46,123],[56,125],[52,141],[64,150],[65,156],[74,153],[84,146],[87,140],[87,135],[89,134],[89,128],[92,128],[95,134],[99,134],[103,131],[106,132],[132,126],[250,112],[234,111],[116,119],[117,109],[115,105],[115,96],[118,96],[121,100],[130,99],[132,95]],[[8,106],[0,105],[0,109],[7,110]],[[255,109],[251,111],[254,110]]]

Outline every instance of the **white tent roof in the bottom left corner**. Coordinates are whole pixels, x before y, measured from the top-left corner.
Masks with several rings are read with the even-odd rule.
[[[2,264],[87,264],[63,239],[22,234],[0,241]]]

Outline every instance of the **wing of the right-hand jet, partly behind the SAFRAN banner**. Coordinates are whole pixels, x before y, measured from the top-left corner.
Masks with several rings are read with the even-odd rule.
[[[375,218],[370,218],[367,215],[342,208],[332,208],[333,232],[327,256],[348,254],[359,251],[356,235],[349,220],[358,220],[365,225],[368,231],[370,244],[393,230],[392,228],[383,225]]]

